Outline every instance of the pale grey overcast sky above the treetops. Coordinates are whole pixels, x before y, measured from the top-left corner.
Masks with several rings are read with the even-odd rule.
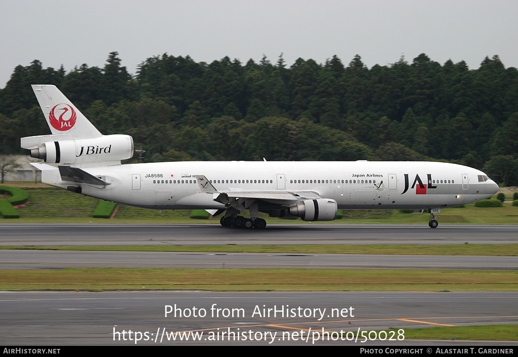
[[[420,53],[478,68],[500,56],[518,67],[515,0],[0,0],[0,88],[17,65],[103,67],[119,52],[135,74],[168,53],[196,62],[224,56],[288,65],[355,54],[370,68]]]

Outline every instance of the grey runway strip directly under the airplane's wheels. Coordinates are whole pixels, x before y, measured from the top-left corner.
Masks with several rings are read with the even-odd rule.
[[[0,245],[516,244],[518,225],[2,224]]]

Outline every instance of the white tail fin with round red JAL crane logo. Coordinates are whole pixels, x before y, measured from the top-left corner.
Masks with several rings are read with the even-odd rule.
[[[65,134],[63,139],[92,139],[102,136],[55,85],[33,84],[32,88],[52,134]]]

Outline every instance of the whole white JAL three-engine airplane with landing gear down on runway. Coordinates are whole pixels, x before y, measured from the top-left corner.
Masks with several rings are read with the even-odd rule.
[[[103,135],[54,85],[32,85],[51,134],[21,138],[53,187],[123,205],[224,213],[226,227],[264,229],[258,217],[332,221],[338,209],[441,208],[489,198],[498,185],[480,170],[443,162],[161,162],[121,164],[129,135]],[[317,149],[317,148],[315,148]],[[248,210],[250,218],[240,216]]]

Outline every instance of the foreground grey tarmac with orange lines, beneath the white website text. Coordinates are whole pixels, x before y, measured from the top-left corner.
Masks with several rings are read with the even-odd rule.
[[[0,342],[10,346],[455,347],[465,346],[466,341],[409,340],[405,331],[415,327],[516,324],[518,319],[516,294],[505,292],[0,292],[0,308]],[[333,341],[340,331],[343,339]],[[371,339],[366,337],[367,341],[361,342],[362,332],[369,336],[371,331],[386,334],[370,333]],[[199,340],[190,334],[188,341],[179,341],[180,335],[173,335],[178,332],[197,332]],[[230,334],[225,337],[223,332]],[[329,340],[322,340],[323,332],[328,333]],[[135,341],[136,336],[139,341]],[[173,336],[177,340],[172,340]],[[518,343],[469,341],[468,345]]]

